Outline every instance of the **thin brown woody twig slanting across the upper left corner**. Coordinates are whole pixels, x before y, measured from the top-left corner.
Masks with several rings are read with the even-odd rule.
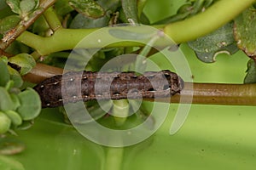
[[[0,41],[0,48],[5,50],[9,45],[15,41],[17,37],[26,29],[32,25],[32,23],[38,19],[38,17],[44,13],[44,11],[55,3],[55,0],[44,0],[40,2],[40,5],[37,10],[30,14],[28,20],[21,20],[19,25],[13,28],[12,30],[4,34],[3,39]]]

